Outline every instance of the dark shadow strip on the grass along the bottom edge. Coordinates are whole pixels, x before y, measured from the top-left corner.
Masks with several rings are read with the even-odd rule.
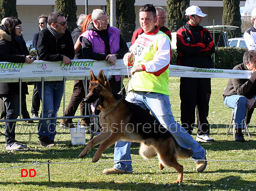
[[[136,175],[136,174],[133,174]],[[117,175],[108,175],[111,179],[113,176]],[[216,181],[206,181],[206,180],[194,180],[189,179],[186,182],[181,183],[180,185],[175,185],[173,183],[140,183],[140,182],[115,182],[115,181],[25,181],[25,182],[2,182],[0,185],[34,185],[36,187],[45,186],[51,188],[74,188],[74,189],[102,189],[102,190],[193,190],[193,191],[204,191],[204,190],[237,190],[243,187],[246,190],[253,190],[256,186],[254,181],[245,181],[239,176],[226,176],[221,177]],[[35,187],[35,189],[36,189]]]

